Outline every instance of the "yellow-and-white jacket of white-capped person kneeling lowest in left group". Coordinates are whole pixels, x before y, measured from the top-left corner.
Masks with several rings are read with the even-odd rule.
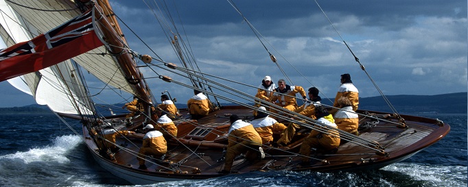
[[[143,137],[143,148],[150,148],[155,154],[165,154],[167,152],[167,142],[163,137],[163,134],[159,131],[150,131]]]

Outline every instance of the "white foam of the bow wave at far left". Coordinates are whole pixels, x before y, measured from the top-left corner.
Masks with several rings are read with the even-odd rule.
[[[59,136],[54,140],[54,145],[43,148],[33,148],[26,152],[1,155],[0,159],[20,159],[23,160],[25,164],[30,162],[65,163],[69,162],[69,159],[65,157],[65,153],[76,147],[80,142],[80,137],[76,135]]]

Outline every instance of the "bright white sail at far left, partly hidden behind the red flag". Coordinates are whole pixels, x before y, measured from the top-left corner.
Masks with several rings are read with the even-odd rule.
[[[19,14],[10,8],[5,1],[0,1],[1,16],[3,19],[0,20],[0,35],[5,45],[12,46],[17,42],[23,42],[31,40],[32,34],[37,32],[37,29],[24,21]],[[27,28],[27,29],[25,29]],[[60,71],[61,70],[61,71]],[[28,73],[23,76],[9,79],[8,82],[15,88],[33,95],[36,102],[40,105],[48,105],[51,110],[55,112],[65,114],[78,114],[77,108],[80,112],[89,113],[89,108],[86,108],[83,103],[78,99],[75,92],[82,89],[78,87],[70,88],[71,86],[65,86],[67,82],[71,82],[69,73],[73,71],[71,62],[62,62],[56,66],[45,68],[41,71]],[[64,79],[65,77],[65,79]],[[80,80],[76,80],[79,82]],[[83,90],[79,90],[84,92]],[[74,97],[74,99],[72,98]],[[78,104],[77,104],[78,103]]]

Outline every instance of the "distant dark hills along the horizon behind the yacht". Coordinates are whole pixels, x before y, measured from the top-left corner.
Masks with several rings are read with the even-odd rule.
[[[443,95],[390,95],[386,96],[390,103],[401,114],[414,113],[441,113],[441,114],[467,114],[467,92],[449,93]],[[333,101],[334,99],[331,98]],[[382,97],[360,98],[359,109],[391,112]],[[329,105],[329,101],[323,101]],[[233,103],[221,103],[233,105]],[[121,106],[121,105],[119,105]],[[187,108],[185,103],[176,103],[177,108]],[[103,110],[108,111],[108,108]],[[14,108],[0,108],[3,113],[44,113],[51,112],[45,105],[27,105]],[[104,112],[104,111],[103,111]]]

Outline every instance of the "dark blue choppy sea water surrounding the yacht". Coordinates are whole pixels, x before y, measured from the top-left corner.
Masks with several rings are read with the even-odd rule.
[[[147,186],[467,186],[467,114],[419,114],[451,131],[403,162],[362,172],[253,172]],[[81,125],[54,114],[0,114],[0,186],[132,186],[97,166]]]

